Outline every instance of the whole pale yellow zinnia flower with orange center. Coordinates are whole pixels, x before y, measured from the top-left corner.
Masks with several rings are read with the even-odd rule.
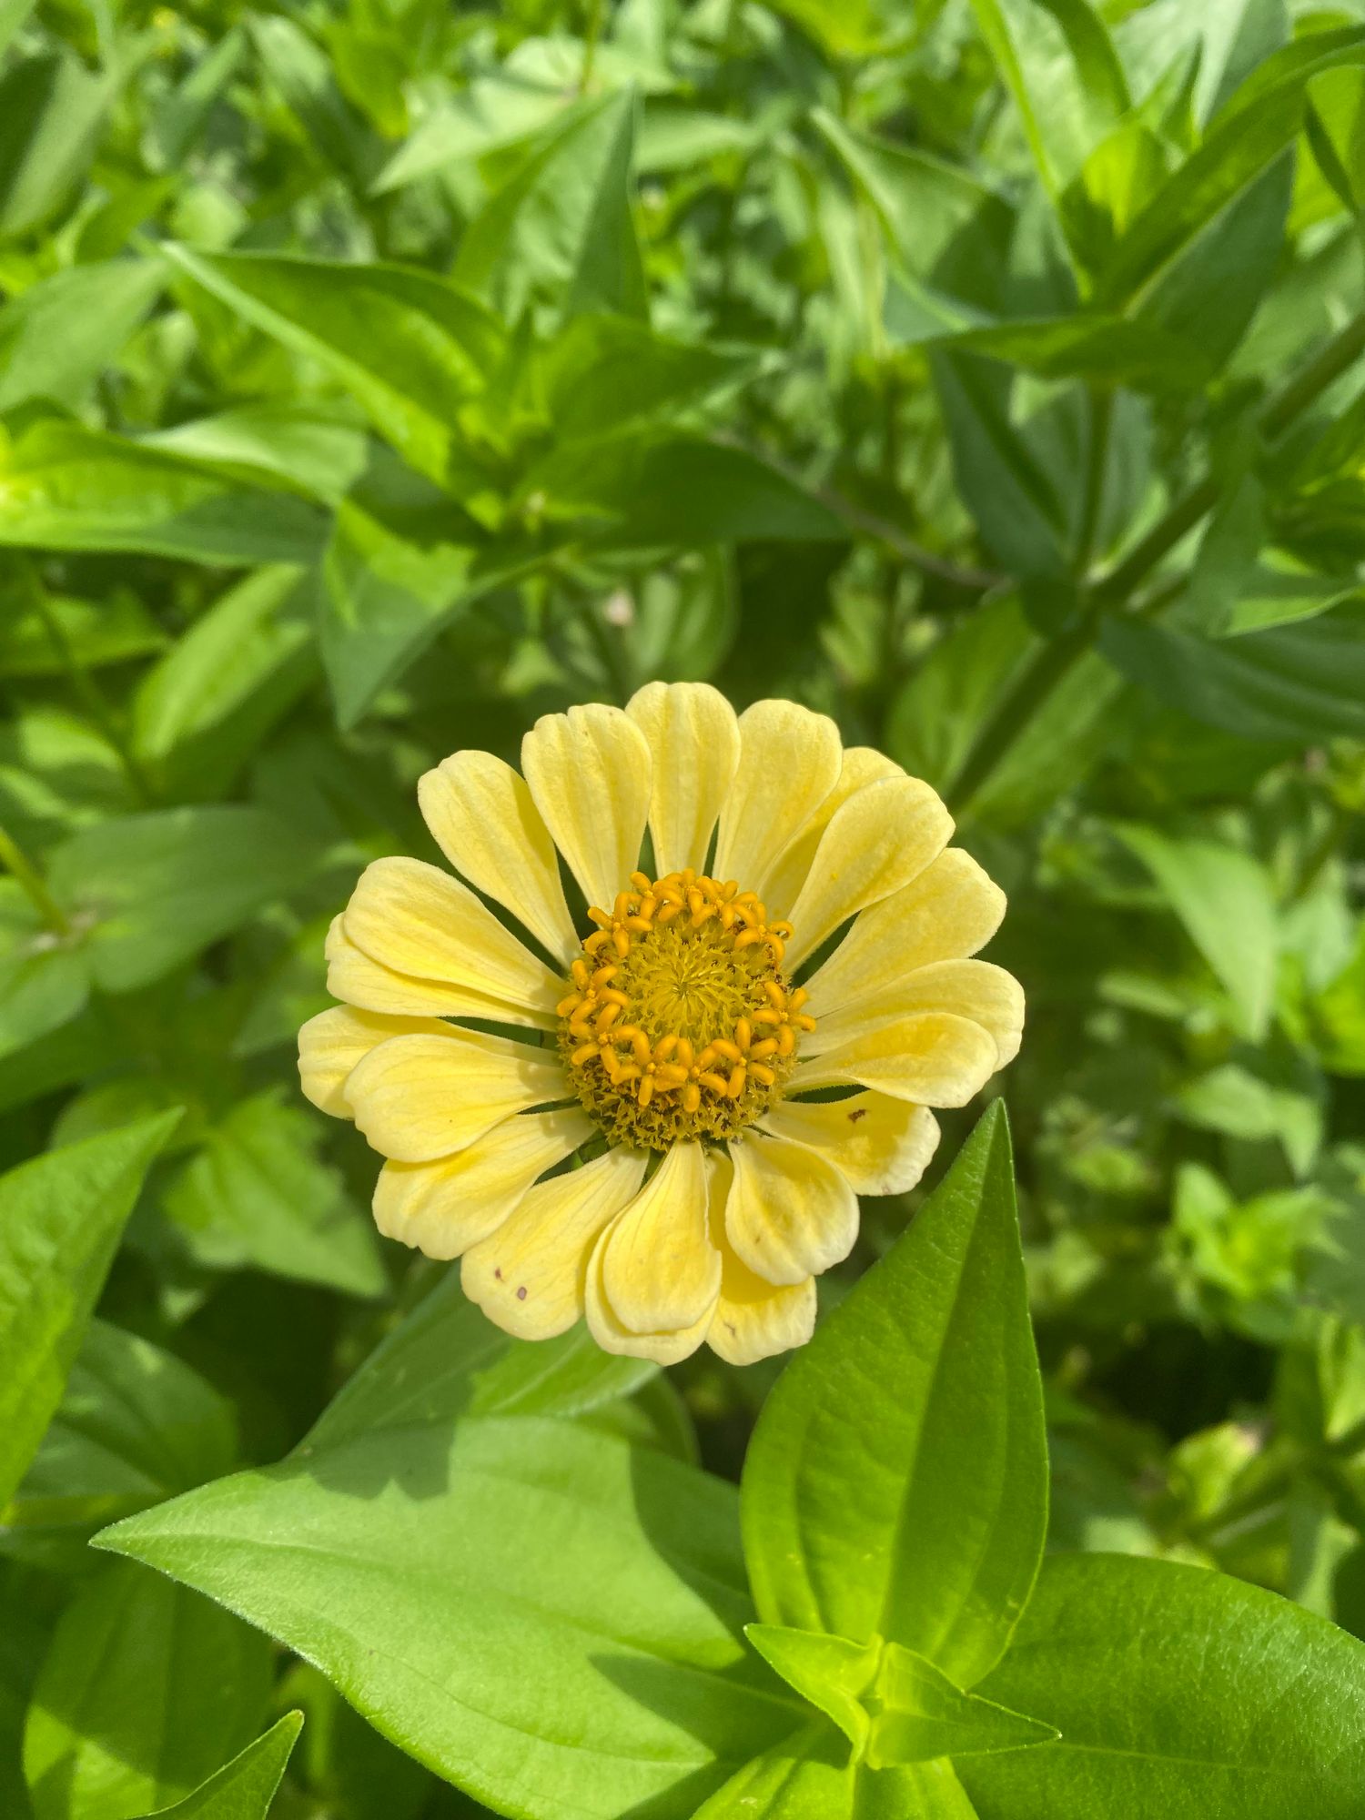
[[[1017,983],[968,959],[1005,897],[948,848],[939,797],[794,703],[735,717],[706,684],[652,682],[544,715],[521,775],[457,752],[419,801],[468,885],[368,866],[328,937],[344,1003],[298,1034],[308,1097],[388,1159],[380,1230],[462,1258],[521,1338],[586,1314],[661,1363],[801,1345],[857,1196],[914,1187],[926,1108],[1019,1048]]]

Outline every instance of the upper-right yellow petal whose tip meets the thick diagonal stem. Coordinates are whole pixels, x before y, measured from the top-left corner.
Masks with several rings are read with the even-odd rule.
[[[841,923],[903,890],[952,837],[952,815],[919,777],[886,777],[835,810],[788,915],[795,935],[786,966],[799,966]]]

